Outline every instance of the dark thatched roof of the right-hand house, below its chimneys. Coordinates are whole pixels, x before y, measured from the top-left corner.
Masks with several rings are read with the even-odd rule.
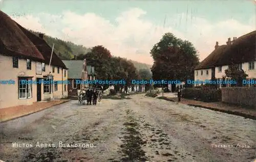
[[[256,31],[245,34],[230,45],[220,45],[195,70],[256,60]]]

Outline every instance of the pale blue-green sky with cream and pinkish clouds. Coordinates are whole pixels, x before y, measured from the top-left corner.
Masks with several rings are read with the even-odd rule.
[[[256,0],[0,0],[0,9],[28,29],[148,64],[166,32],[192,42],[203,60],[216,41],[255,30],[255,7]]]

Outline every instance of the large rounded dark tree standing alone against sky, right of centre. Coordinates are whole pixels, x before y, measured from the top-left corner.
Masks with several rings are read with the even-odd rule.
[[[191,42],[165,33],[152,48],[151,56],[154,80],[194,80],[194,68],[199,64],[199,58]]]

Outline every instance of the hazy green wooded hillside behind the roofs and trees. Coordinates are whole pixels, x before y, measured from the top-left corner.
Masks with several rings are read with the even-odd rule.
[[[31,30],[30,30],[31,31]],[[38,35],[38,32],[35,31],[31,31],[32,33],[34,33],[35,35]],[[53,38],[51,36],[45,35],[44,39],[46,40],[46,42],[50,45],[50,47],[52,47],[53,43],[54,43],[54,52],[58,55],[58,57],[61,60],[70,60],[72,58],[74,58],[74,55],[78,56],[79,54],[87,54],[88,52],[91,51],[90,48],[86,48],[83,45],[77,45],[73,42],[70,41],[63,41],[61,39],[58,38]],[[140,69],[150,69],[151,65],[145,64],[145,63],[140,63],[137,61],[133,61],[134,66],[137,68],[137,70]]]

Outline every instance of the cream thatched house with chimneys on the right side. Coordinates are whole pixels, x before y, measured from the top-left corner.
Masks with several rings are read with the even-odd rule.
[[[239,69],[248,75],[248,80],[255,79],[255,47],[256,31],[239,38],[233,37],[232,41],[228,38],[225,45],[219,45],[217,41],[215,50],[195,68],[195,80],[205,81],[216,78],[221,81],[225,77],[225,70],[231,64],[239,65]],[[195,84],[198,85],[201,84]]]

